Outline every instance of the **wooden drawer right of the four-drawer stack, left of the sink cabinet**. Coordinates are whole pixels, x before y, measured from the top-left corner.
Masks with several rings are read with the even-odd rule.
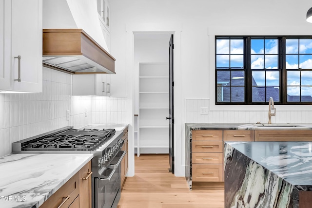
[[[224,141],[254,141],[254,130],[224,130]]]

